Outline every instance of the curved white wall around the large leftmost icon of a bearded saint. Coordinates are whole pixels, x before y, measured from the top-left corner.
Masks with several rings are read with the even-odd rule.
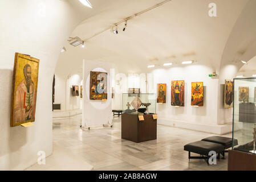
[[[60,49],[79,18],[59,0],[0,1],[0,169],[25,169],[52,152],[52,77]],[[34,126],[10,127],[15,52],[40,59]]]

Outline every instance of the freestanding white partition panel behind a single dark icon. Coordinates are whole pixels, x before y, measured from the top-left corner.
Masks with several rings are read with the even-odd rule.
[[[82,128],[112,125],[111,63],[83,60],[83,119]],[[90,72],[108,73],[107,101],[90,100]]]

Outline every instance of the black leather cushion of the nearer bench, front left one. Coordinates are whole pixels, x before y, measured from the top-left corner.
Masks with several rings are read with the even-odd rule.
[[[222,144],[200,140],[197,142],[186,144],[184,146],[184,150],[208,156],[210,151],[215,151],[218,154],[223,152],[225,150],[225,147]]]

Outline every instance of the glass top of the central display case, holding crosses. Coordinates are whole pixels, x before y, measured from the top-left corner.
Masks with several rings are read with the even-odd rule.
[[[156,94],[123,94],[123,113],[156,114]]]

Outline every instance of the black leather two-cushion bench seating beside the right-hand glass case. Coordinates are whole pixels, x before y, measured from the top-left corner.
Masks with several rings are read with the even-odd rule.
[[[232,141],[232,138],[213,136],[186,144],[184,146],[184,150],[189,152],[189,159],[206,159],[206,162],[208,163],[210,151],[215,151],[216,154],[218,154],[218,159],[220,158],[220,154],[223,156],[222,159],[225,159],[225,152],[227,152],[226,149],[232,147],[232,142],[233,146],[238,145],[237,139]],[[190,152],[203,156],[191,156]]]

